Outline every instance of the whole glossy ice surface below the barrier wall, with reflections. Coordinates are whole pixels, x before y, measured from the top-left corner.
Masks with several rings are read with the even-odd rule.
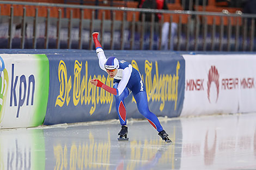
[[[256,114],[160,118],[173,143],[147,121],[117,120],[0,130],[0,169],[256,169]]]

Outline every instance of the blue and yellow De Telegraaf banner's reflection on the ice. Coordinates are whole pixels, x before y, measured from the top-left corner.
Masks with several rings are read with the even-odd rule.
[[[101,128],[95,125],[57,128],[54,132],[53,129],[45,129],[45,143],[53,148],[46,150],[46,158],[54,155],[52,159],[55,160],[46,162],[46,169],[148,169],[158,162],[172,165],[173,144],[163,142],[145,122],[137,124],[141,134],[136,133],[138,128],[135,124],[129,128],[129,142],[117,141],[117,124],[101,125]],[[170,137],[175,138],[176,130],[173,128],[170,127],[173,132]]]

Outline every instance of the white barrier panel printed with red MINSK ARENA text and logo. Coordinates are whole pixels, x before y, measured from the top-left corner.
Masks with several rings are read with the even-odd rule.
[[[185,99],[181,116],[256,111],[256,55],[183,56]]]

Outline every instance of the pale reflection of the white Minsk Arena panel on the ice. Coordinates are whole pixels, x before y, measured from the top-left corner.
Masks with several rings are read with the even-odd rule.
[[[191,163],[198,169],[255,169],[255,118],[256,114],[182,119],[181,169]]]

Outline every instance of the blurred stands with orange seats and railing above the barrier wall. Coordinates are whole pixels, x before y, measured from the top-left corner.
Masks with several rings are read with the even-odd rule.
[[[254,0],[0,1],[0,48],[255,51]]]

